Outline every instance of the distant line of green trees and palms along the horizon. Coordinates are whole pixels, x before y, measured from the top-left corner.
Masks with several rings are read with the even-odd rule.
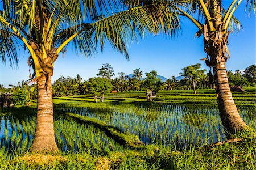
[[[181,69],[183,72],[180,75],[183,79],[177,80],[175,76],[171,76],[165,82],[158,77],[158,73],[152,70],[150,73],[145,73],[146,78],[143,78],[141,69],[134,69],[131,77],[123,72],[119,72],[115,76],[113,67],[109,64],[103,64],[98,69],[97,78],[89,78],[83,80],[79,74],[75,78],[68,76],[65,78],[60,76],[52,84],[53,97],[76,96],[76,95],[93,95],[94,101],[97,102],[97,97],[100,101],[104,101],[104,94],[110,91],[126,92],[126,91],[159,91],[159,90],[194,90],[203,88],[214,88],[213,75],[210,70],[201,70],[201,65],[191,65]],[[231,86],[238,85],[241,87],[256,86],[256,65],[246,67],[242,73],[240,70],[227,71],[229,84]],[[0,92],[11,92],[14,94],[14,104],[26,105],[32,99],[36,99],[36,84],[28,85],[27,81],[18,82],[17,86],[10,84],[11,88],[6,89],[3,85],[0,86]],[[151,95],[151,93],[149,93]],[[147,97],[147,95],[146,95]],[[152,96],[147,99],[152,100]]]

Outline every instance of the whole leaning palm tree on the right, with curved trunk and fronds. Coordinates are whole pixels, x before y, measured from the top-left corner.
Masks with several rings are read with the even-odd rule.
[[[152,2],[154,1],[138,0],[133,2],[133,5],[144,6]],[[227,46],[228,36],[230,32],[239,31],[241,28],[240,22],[233,16],[241,2],[242,0],[230,1],[229,7],[225,9],[221,0],[162,1],[166,6],[170,6],[170,11],[188,18],[199,28],[199,31],[196,32],[197,37],[204,36],[204,51],[207,57],[203,60],[207,66],[213,68],[222,124],[227,131],[233,134],[248,128],[234,104],[226,76],[226,61],[230,57]],[[247,0],[246,2],[249,13],[252,9],[255,13],[256,1]]]

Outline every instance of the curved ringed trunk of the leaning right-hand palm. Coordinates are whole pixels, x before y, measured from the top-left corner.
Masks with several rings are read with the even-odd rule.
[[[236,131],[242,131],[248,128],[243,122],[237,111],[236,105],[229,88],[228,76],[226,73],[225,59],[213,66],[214,80],[216,85],[216,94],[218,109],[220,111],[221,121],[224,129],[234,134]]]

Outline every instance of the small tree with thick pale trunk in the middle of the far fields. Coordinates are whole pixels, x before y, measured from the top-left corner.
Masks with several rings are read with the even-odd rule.
[[[146,88],[146,98],[147,101],[152,101],[152,92],[153,90],[160,90],[163,82],[160,78],[157,77],[158,73],[155,70],[152,70],[150,73],[145,73],[146,78],[144,79],[144,88]]]

